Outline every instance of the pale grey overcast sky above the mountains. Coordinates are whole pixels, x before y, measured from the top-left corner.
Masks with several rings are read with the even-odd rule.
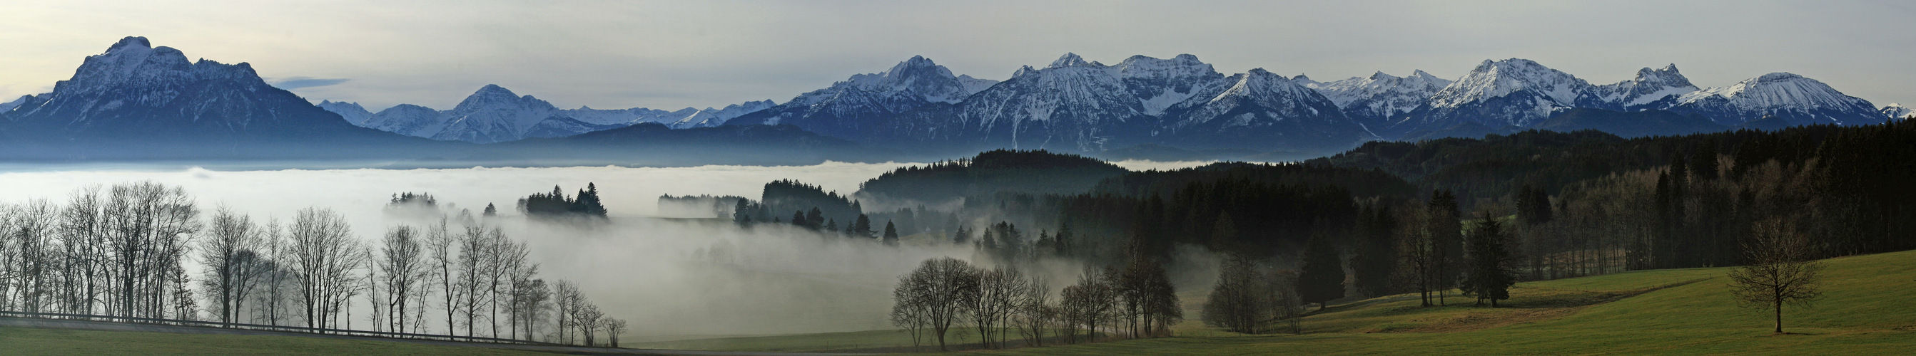
[[[0,96],[121,36],[247,61],[312,101],[450,109],[485,84],[559,107],[786,101],[925,56],[1006,78],[1065,52],[1194,54],[1318,80],[1525,57],[1594,84],[1676,63],[1698,86],[1790,71],[1916,101],[1916,2],[8,2]],[[0,101],[6,101],[0,100]]]

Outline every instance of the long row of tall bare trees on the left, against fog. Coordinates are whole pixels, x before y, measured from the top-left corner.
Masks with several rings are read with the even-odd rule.
[[[180,188],[117,184],[0,205],[0,310],[353,329],[358,300],[372,331],[617,346],[627,323],[527,255],[483,222],[366,243],[328,209],[201,216]]]

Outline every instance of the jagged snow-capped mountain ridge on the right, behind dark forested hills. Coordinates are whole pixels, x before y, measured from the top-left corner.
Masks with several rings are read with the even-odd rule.
[[[927,71],[910,71],[924,67]],[[1017,69],[1012,78],[964,100],[931,100],[897,86],[872,100],[855,82],[954,82],[943,67],[912,57],[887,73],[858,75],[828,90],[726,124],[797,124],[866,145],[902,149],[1061,149],[1102,153],[1132,145],[1330,153],[1368,140],[1427,140],[1542,128],[1571,109],[1682,115],[1636,122],[1585,113],[1556,126],[1619,134],[1797,124],[1870,124],[1887,111],[1828,84],[1770,73],[1722,88],[1698,88],[1676,65],[1644,67],[1631,80],[1590,84],[1529,59],[1483,61],[1448,80],[1424,71],[1374,73],[1332,82],[1286,78],[1253,69],[1222,75],[1196,56],[1132,56],[1117,65],[1065,54],[1050,65]],[[941,86],[952,92],[956,84]],[[1598,119],[1604,117],[1604,119]],[[1646,115],[1625,115],[1646,117]],[[1690,117],[1705,119],[1696,122]],[[1761,122],[1759,122],[1761,121]]]

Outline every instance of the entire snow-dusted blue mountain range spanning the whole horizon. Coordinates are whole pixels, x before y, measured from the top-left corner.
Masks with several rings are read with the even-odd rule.
[[[404,145],[399,151],[435,147],[433,155],[441,155],[473,151],[458,144],[565,142],[607,130],[663,138],[674,130],[707,128],[705,134],[686,136],[743,140],[738,136],[743,128],[793,126],[755,132],[816,136],[768,142],[849,147],[820,144],[841,140],[922,155],[1012,147],[1090,155],[1230,151],[1311,157],[1372,140],[1533,128],[1654,136],[1872,124],[1905,115],[1906,107],[1874,107],[1791,73],[1699,88],[1675,65],[1665,65],[1640,69],[1631,80],[1590,84],[1512,57],[1487,59],[1454,80],[1412,71],[1406,77],[1374,73],[1318,82],[1265,69],[1226,75],[1190,54],[1169,59],[1132,56],[1113,65],[1065,54],[1044,67],[1021,67],[1006,80],[954,75],[927,57],[910,57],[887,71],[853,75],[784,103],[763,100],[722,109],[558,109],[489,84],[452,109],[402,103],[374,113],[349,101],[310,103],[266,84],[247,63],[186,61],[178,50],[128,36],[105,54],[86,57],[75,77],[57,82],[54,92],[0,103],[0,140],[19,145],[15,153],[61,157],[98,151],[88,142],[123,151],[140,145],[161,153],[171,149],[167,155],[190,155],[209,145],[234,153],[261,151],[253,145],[320,145],[328,151]]]

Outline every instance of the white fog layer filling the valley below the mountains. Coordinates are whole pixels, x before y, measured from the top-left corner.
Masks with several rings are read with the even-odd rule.
[[[540,264],[542,278],[581,283],[609,316],[632,323],[628,335],[814,333],[885,329],[897,276],[931,256],[977,258],[969,247],[948,243],[908,241],[885,247],[786,226],[741,230],[724,220],[651,218],[657,197],[663,193],[759,197],[764,182],[782,178],[851,193],[858,182],[902,165],[33,170],[0,172],[0,201],[63,203],[67,193],[82,186],[151,180],[184,188],[203,211],[224,205],[259,220],[284,222],[307,207],[333,209],[353,224],[354,235],[372,243],[389,226],[420,224],[383,212],[391,193],[423,191],[435,195],[450,214],[462,209],[479,214],[487,203],[496,205],[502,216],[494,222],[513,239],[531,245],[531,258]],[[1182,168],[1194,163],[1123,165]],[[513,203],[529,193],[550,191],[554,184],[571,193],[586,182],[598,186],[602,201],[611,211],[611,224],[584,230],[552,226],[527,222],[513,211]],[[1054,289],[1075,281],[1073,262],[1052,260],[1040,266],[1029,274],[1046,276]],[[364,320],[354,320],[358,322]]]

